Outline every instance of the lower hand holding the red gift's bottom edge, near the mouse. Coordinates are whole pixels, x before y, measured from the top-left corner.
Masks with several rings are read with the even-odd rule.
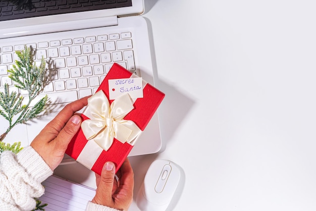
[[[101,176],[96,176],[96,193],[93,203],[109,206],[120,210],[128,210],[133,200],[134,173],[126,158],[117,172],[115,179],[115,165],[112,162],[104,164]]]

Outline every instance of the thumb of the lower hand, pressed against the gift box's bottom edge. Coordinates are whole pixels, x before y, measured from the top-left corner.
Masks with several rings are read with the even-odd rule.
[[[99,184],[92,202],[102,205],[110,205],[112,200],[112,189],[115,178],[115,165],[112,162],[104,164]]]

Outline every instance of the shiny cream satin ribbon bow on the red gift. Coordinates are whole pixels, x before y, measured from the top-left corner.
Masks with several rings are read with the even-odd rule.
[[[103,91],[88,98],[87,117],[81,129],[87,140],[94,140],[101,148],[108,150],[116,138],[122,143],[134,145],[142,132],[131,120],[123,118],[134,109],[128,93],[114,100],[111,105]]]

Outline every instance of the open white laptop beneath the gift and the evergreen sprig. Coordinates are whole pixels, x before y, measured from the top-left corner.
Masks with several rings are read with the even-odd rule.
[[[11,2],[17,2],[14,5]],[[26,44],[36,64],[43,56],[46,77],[40,97],[47,94],[49,110],[17,125],[5,142],[29,145],[65,104],[93,94],[113,63],[154,85],[143,0],[59,0],[0,2],[0,91],[4,84],[18,91],[8,77],[17,59],[15,50]],[[0,133],[8,121],[0,116]],[[129,156],[155,153],[162,141],[156,113]]]

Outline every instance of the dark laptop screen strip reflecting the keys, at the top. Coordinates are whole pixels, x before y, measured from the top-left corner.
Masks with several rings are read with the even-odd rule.
[[[132,0],[0,1],[0,21],[131,7]]]

